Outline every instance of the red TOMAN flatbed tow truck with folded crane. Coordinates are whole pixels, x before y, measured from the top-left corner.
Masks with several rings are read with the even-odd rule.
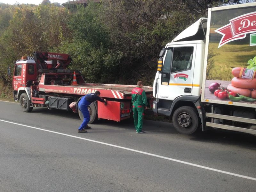
[[[121,121],[130,118],[131,91],[135,85],[85,83],[78,70],[70,70],[70,55],[52,52],[34,52],[33,57],[21,57],[15,62],[13,73],[13,97],[20,101],[24,112],[34,107],[49,109],[78,110],[77,104],[83,95],[100,91],[107,105],[93,102],[89,106],[90,124],[98,119]],[[144,86],[148,107],[153,104],[153,88]]]

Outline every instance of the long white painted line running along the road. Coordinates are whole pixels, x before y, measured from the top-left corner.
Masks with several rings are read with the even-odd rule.
[[[141,153],[141,154],[144,154],[144,155],[154,156],[154,157],[158,157],[158,158],[161,158],[161,159],[167,159],[167,160],[170,160],[170,161],[174,161],[174,162],[178,162],[178,163],[182,163],[182,164],[187,164],[187,165],[191,165],[191,166],[194,166],[194,167],[199,167],[199,168],[202,168],[202,169],[207,169],[207,170],[211,170],[211,171],[215,171],[215,172],[220,172],[220,173],[224,173],[224,174],[228,174],[228,175],[232,175],[232,176],[241,177],[241,178],[244,178],[244,179],[249,179],[249,180],[256,181],[256,178],[254,178],[254,177],[248,177],[248,176],[245,176],[245,175],[240,175],[240,174],[236,174],[236,173],[222,171],[222,170],[219,170],[219,169],[213,169],[211,167],[205,167],[205,166],[202,166],[202,165],[193,164],[193,163],[189,163],[189,162],[186,162],[186,161],[180,161],[178,159],[172,159],[172,158],[169,158],[169,157],[160,156],[160,155],[156,155],[156,154],[153,154],[153,153],[147,153],[147,152],[144,152],[144,151],[139,151],[139,150],[126,148],[126,147],[121,147],[121,146],[118,146],[118,145],[104,143],[104,142],[100,142],[100,141],[96,141],[96,140],[86,139],[86,138],[83,138],[83,137],[77,137],[77,136],[74,136],[74,135],[68,135],[68,134],[65,134],[65,133],[60,133],[60,132],[50,131],[50,130],[41,129],[41,128],[37,128],[37,127],[32,127],[32,126],[28,126],[28,125],[24,125],[24,124],[13,123],[11,121],[5,121],[5,120],[2,120],[2,119],[0,119],[0,121],[10,123],[10,124],[20,125],[20,126],[23,126],[23,127],[29,127],[29,128],[33,128],[33,129],[37,129],[37,130],[41,130],[41,131],[56,133],[56,134],[64,135],[64,136],[68,136],[68,137],[73,137],[73,138],[76,138],[76,139],[91,141],[91,142],[94,142],[94,143],[99,143],[99,144],[102,144],[102,145],[108,145],[108,146],[115,147],[115,148],[121,148],[121,149],[124,149],[124,150],[133,151],[133,152],[136,152],[136,153]]]

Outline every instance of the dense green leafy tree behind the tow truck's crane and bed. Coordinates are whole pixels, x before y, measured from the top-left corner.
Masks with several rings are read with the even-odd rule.
[[[72,37],[64,41],[62,52],[72,55],[73,66],[80,69],[86,80],[97,83],[118,82],[118,62],[122,54],[111,52],[109,33],[100,15],[102,5],[89,3],[69,20]]]

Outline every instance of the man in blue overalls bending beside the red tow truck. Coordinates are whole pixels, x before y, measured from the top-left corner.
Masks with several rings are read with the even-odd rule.
[[[88,111],[89,105],[96,100],[103,102],[103,103],[107,102],[106,99],[103,100],[99,96],[100,96],[100,92],[96,91],[95,93],[89,93],[87,95],[84,95],[82,97],[82,99],[79,101],[78,109],[83,113],[83,116],[84,116],[84,121],[78,128],[79,133],[86,133],[87,130],[85,130],[85,129],[91,128],[87,125],[90,121],[90,113]]]

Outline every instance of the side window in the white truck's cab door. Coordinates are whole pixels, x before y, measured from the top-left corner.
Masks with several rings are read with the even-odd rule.
[[[173,61],[171,73],[191,69],[193,58],[193,47],[175,47],[173,50]]]

